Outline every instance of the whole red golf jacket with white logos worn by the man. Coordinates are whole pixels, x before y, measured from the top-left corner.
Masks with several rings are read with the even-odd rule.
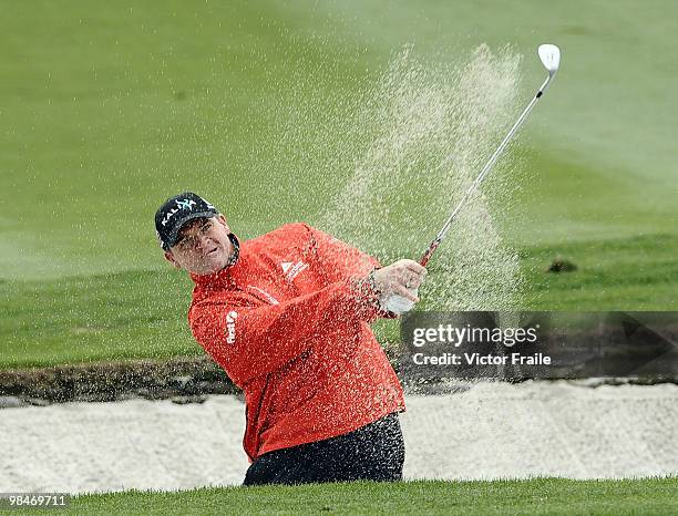
[[[402,388],[369,322],[358,281],[374,258],[305,224],[240,246],[237,261],[195,276],[195,339],[245,392],[250,461],[342,435],[404,411]]]

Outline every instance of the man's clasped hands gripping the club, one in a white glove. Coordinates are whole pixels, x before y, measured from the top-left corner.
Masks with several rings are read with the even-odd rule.
[[[419,301],[417,289],[423,282],[427,269],[414,260],[398,260],[374,271],[374,286],[380,305],[393,313],[404,313]]]

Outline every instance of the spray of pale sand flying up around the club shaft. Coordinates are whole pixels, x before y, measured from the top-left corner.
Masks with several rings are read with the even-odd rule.
[[[481,45],[460,65],[424,63],[405,48],[361,99],[350,131],[363,135],[364,152],[326,165],[351,162],[355,172],[319,227],[383,264],[419,259],[510,126],[520,63],[508,48]],[[495,176],[505,175],[507,157]],[[493,221],[510,193],[500,178],[470,199],[430,265],[423,308],[515,306],[518,257]]]

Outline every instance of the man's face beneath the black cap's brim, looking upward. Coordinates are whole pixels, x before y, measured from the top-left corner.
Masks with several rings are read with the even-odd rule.
[[[176,245],[165,251],[165,258],[194,275],[218,272],[234,251],[229,233],[223,215],[189,220],[179,229]]]

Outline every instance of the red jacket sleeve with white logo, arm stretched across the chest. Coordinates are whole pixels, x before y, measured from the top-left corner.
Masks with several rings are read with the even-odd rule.
[[[279,305],[210,297],[195,303],[188,319],[198,343],[243,386],[309,349],[317,328],[374,319],[377,305],[368,281],[349,278]]]

